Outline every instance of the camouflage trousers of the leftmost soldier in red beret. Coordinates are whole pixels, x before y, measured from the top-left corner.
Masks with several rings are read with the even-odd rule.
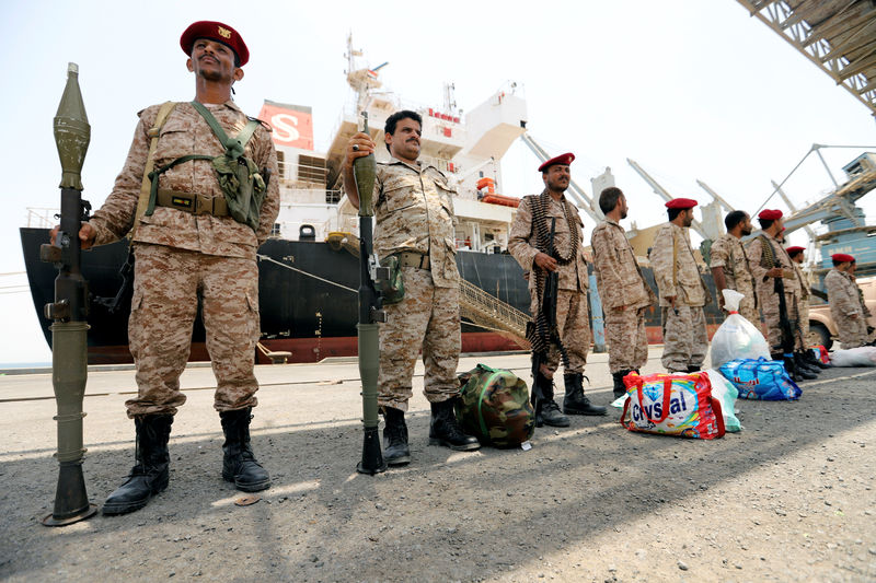
[[[214,408],[221,412],[257,405],[255,260],[149,244],[136,244],[135,256],[128,341],[138,395],[125,403],[128,417],[173,415],[185,403],[180,375],[192,347],[198,298],[217,383]]]

